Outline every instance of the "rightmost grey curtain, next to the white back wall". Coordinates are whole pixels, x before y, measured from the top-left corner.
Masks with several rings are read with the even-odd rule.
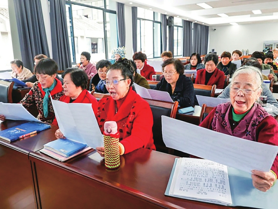
[[[193,23],[193,45],[192,50],[200,55],[207,54],[209,42],[209,27]]]

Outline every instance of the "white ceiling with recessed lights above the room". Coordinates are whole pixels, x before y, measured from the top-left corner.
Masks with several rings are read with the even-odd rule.
[[[278,21],[277,0],[117,0],[128,6],[152,8],[154,12],[169,16],[179,16],[185,20],[205,25],[227,25],[230,22],[238,24]],[[130,4],[132,2],[133,4]],[[204,9],[196,3],[205,2],[211,9]],[[261,10],[262,14],[254,15],[252,10]],[[219,17],[225,13],[229,17]],[[275,26],[274,26],[275,27]]]

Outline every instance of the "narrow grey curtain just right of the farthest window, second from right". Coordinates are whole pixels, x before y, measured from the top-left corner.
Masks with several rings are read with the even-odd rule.
[[[183,56],[192,54],[192,22],[183,20]]]

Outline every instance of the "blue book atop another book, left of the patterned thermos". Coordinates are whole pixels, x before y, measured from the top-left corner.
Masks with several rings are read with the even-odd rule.
[[[79,143],[70,139],[56,139],[44,145],[45,149],[48,149],[64,157],[69,157],[75,153],[78,153],[85,147],[87,147],[87,144]]]

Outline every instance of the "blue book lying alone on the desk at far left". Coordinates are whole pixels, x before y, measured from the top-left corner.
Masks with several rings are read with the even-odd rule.
[[[50,127],[49,124],[32,121],[0,131],[0,138],[12,142]]]

